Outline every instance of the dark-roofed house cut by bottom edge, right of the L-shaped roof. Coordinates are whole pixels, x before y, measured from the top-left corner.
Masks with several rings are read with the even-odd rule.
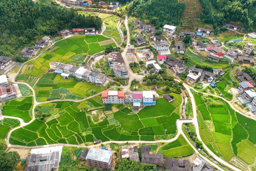
[[[165,158],[165,169],[169,171],[192,171],[189,160]]]

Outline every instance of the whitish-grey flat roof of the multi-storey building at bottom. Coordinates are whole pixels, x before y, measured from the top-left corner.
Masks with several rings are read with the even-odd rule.
[[[91,148],[86,156],[86,160],[92,159],[110,164],[112,153],[113,152],[109,150]]]

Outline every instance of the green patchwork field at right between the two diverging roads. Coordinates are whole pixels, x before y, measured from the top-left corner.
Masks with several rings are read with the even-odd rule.
[[[224,87],[226,84],[219,86]],[[211,104],[211,98],[207,95],[204,96],[206,104]],[[195,99],[197,105],[202,104],[201,97],[196,95]],[[222,156],[226,161],[237,157],[248,164],[254,162],[256,157],[256,148],[254,147],[256,122],[254,120],[235,113],[229,104],[224,102],[221,106],[199,105],[198,109],[203,116],[198,116],[201,127],[199,129],[200,137],[213,153]],[[233,136],[232,139],[231,136]]]

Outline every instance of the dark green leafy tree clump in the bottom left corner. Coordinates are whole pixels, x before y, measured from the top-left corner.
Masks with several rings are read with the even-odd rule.
[[[0,170],[12,171],[15,164],[18,163],[18,159],[20,159],[20,156],[16,151],[11,151],[7,153],[1,150],[0,151]]]

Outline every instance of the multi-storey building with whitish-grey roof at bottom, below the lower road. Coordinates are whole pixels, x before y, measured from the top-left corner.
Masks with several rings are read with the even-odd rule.
[[[113,156],[112,151],[91,148],[86,156],[88,166],[102,170],[110,170]]]

